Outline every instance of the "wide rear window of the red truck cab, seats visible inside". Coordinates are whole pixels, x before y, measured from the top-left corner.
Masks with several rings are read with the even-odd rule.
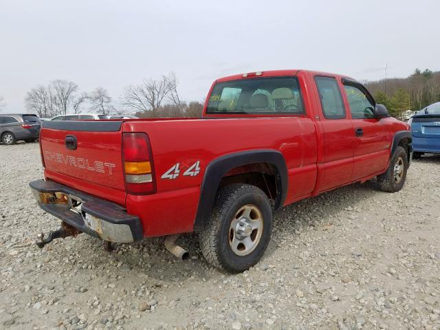
[[[214,85],[206,113],[305,113],[296,77],[232,80]]]

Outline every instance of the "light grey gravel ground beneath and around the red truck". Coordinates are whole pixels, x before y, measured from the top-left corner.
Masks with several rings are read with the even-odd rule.
[[[1,329],[440,329],[440,157],[413,162],[404,189],[355,184],[284,208],[262,261],[209,267],[194,235],[105,252],[87,235],[43,250],[58,220],[36,207],[38,144],[0,145]]]

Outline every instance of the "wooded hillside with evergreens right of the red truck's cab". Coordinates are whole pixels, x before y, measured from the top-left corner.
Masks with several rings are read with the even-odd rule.
[[[366,83],[375,101],[384,104],[389,113],[404,117],[408,110],[417,111],[440,101],[440,72],[415,69],[407,78],[391,78]]]

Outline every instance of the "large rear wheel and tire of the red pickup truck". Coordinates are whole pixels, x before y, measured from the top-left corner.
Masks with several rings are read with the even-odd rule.
[[[272,207],[263,190],[231,184],[219,191],[199,243],[208,263],[239,273],[259,262],[271,232]]]

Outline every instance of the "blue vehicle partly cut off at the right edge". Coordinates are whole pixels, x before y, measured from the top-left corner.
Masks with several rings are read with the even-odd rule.
[[[440,153],[440,102],[417,111],[408,124],[411,125],[414,159],[423,153]]]

